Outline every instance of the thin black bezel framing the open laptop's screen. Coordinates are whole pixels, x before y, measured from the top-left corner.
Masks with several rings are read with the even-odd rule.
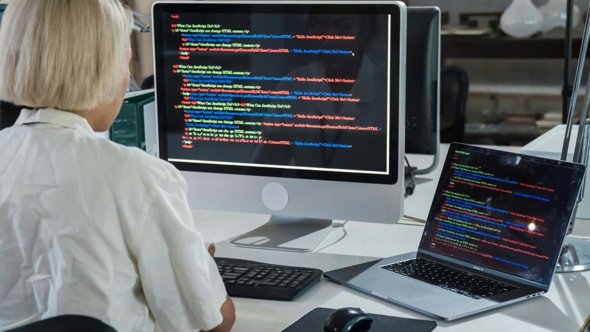
[[[522,160],[526,160],[526,161],[541,162],[544,164],[571,168],[574,171],[581,171],[582,177],[584,177],[586,174],[585,173],[586,167],[582,164],[576,164],[573,162],[562,161],[562,160],[553,160],[553,159],[542,158],[542,157],[535,157],[532,155],[518,154],[515,152],[500,151],[500,150],[489,149],[489,148],[484,148],[484,147],[476,147],[474,145],[461,144],[461,143],[457,143],[457,142],[454,142],[450,145],[450,147],[448,149],[447,158],[445,158],[445,161],[444,161],[444,166],[443,166],[444,168],[450,167],[450,164],[452,162],[451,156],[453,155],[453,151],[455,149],[467,149],[470,151],[480,152],[480,153],[481,152],[493,153],[493,154],[500,155],[503,157],[520,157],[520,158],[522,158]],[[446,183],[443,182],[442,177],[441,177],[438,181],[437,189],[434,191],[434,194],[437,195],[438,193],[441,193],[442,187],[444,185],[446,185]],[[434,214],[436,212],[435,207],[434,207],[434,200],[435,200],[435,197],[432,200],[430,211],[428,212],[428,218],[427,218],[426,224],[424,226],[425,229],[428,227],[428,225],[430,223],[434,222]],[[571,206],[572,209],[570,209],[571,211],[568,216],[569,220],[572,219],[571,217],[572,217],[572,214],[574,213],[573,206],[575,205],[575,197],[572,200],[572,202],[570,202],[570,204],[572,205]],[[563,240],[565,240],[567,229],[568,229],[568,227],[563,228],[563,234],[560,237],[561,241],[559,242],[559,246],[556,246],[556,248],[555,248],[556,255],[553,258],[553,266],[552,266],[551,271],[554,271],[555,266],[557,265],[559,251],[561,250],[561,248],[563,246]],[[418,256],[432,256],[435,259],[439,259],[441,261],[450,262],[450,263],[454,263],[455,265],[463,266],[465,269],[467,269],[470,272],[473,272],[474,274],[481,274],[481,272],[483,271],[484,274],[487,274],[487,275],[497,276],[499,278],[504,278],[504,279],[514,281],[514,282],[519,282],[521,284],[529,285],[532,287],[539,287],[544,290],[549,289],[549,285],[551,284],[551,280],[552,280],[552,277],[551,277],[551,278],[549,278],[549,281],[547,282],[547,284],[543,284],[542,282],[532,281],[530,279],[526,279],[526,278],[522,278],[522,277],[519,277],[516,275],[512,275],[507,272],[500,272],[495,269],[488,268],[487,266],[477,266],[477,265],[474,265],[473,263],[462,261],[460,259],[456,259],[451,256],[442,255],[441,253],[432,251],[432,250],[428,249],[427,246],[422,245],[422,239],[420,240],[420,245],[418,246]],[[477,266],[477,269],[474,268],[474,266]]]

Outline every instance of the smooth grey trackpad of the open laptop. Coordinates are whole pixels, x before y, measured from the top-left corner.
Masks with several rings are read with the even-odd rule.
[[[453,294],[453,292],[396,274],[363,280],[359,282],[359,286],[393,300],[404,302],[422,302]]]

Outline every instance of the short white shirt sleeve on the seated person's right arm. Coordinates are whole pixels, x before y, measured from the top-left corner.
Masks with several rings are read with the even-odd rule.
[[[143,219],[137,263],[156,323],[166,332],[211,330],[221,324],[227,292],[195,230],[186,182],[178,171],[153,184]]]

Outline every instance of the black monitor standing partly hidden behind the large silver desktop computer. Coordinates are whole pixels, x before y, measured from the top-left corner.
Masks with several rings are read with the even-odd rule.
[[[418,170],[422,174],[438,164],[440,31],[438,7],[408,7],[405,152],[434,155],[431,167]]]

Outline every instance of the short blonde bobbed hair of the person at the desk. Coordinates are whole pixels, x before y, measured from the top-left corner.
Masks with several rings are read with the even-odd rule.
[[[87,110],[113,102],[133,26],[120,0],[15,0],[0,28],[0,99]]]

